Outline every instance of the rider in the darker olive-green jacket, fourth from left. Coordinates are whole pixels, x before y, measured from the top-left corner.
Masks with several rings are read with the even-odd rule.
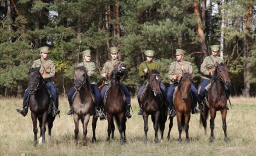
[[[146,84],[149,82],[149,80],[147,79],[147,76],[149,75],[149,70],[158,70],[159,69],[159,64],[156,63],[155,61],[153,61],[153,56],[155,55],[155,51],[152,50],[147,50],[144,52],[144,54],[146,55],[146,61],[142,62],[141,64],[139,64],[139,77],[144,79],[144,83],[142,84],[142,86],[139,88],[139,92],[138,92],[138,102],[139,102],[139,112],[138,115],[142,115],[142,108],[141,108],[141,93],[142,90],[146,87]],[[160,84],[161,87],[161,92],[164,98],[164,102],[167,105],[167,90],[165,89],[164,84],[161,82]],[[167,105],[167,112],[166,114],[171,114],[171,110],[170,110],[170,105]]]

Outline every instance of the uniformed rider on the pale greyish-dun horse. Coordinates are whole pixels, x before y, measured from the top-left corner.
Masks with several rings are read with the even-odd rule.
[[[96,100],[96,105],[95,105],[95,111],[94,111],[94,117],[99,117],[99,113],[98,113],[98,107],[101,104],[101,95],[100,95],[100,90],[97,87],[97,84],[95,83],[94,79],[92,78],[92,76],[94,75],[96,66],[95,63],[93,61],[91,61],[91,50],[87,49],[83,52],[81,52],[81,54],[83,55],[83,62],[78,63],[77,66],[85,66],[86,69],[88,70],[87,75],[89,76],[89,82],[91,84],[91,89],[92,92],[94,93],[95,96],[95,100]],[[68,111],[68,113],[66,113],[68,116],[71,116],[74,111],[73,111],[73,101],[72,101],[72,96],[75,93],[75,87],[72,87],[69,92],[68,92],[68,102],[69,102],[69,106],[70,106],[70,110]]]

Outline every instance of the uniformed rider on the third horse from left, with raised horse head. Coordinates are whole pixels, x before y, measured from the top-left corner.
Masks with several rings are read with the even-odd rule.
[[[104,64],[104,67],[102,69],[102,76],[103,78],[106,79],[105,85],[103,89],[101,90],[101,98],[104,99],[104,95],[106,93],[107,86],[109,86],[110,81],[108,80],[110,73],[114,69],[115,64],[120,63],[118,61],[118,56],[119,56],[119,48],[117,47],[111,47],[109,48],[110,50],[110,55],[111,55],[111,60],[106,61]],[[130,93],[129,90],[127,90],[126,86],[124,84],[120,83],[120,88],[123,90],[124,95],[126,96],[126,117],[130,118],[132,115],[130,114]],[[100,120],[106,120],[106,111],[104,109],[104,106],[102,107],[102,113],[100,115]]]

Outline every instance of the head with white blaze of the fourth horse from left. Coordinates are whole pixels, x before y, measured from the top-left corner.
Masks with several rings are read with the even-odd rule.
[[[160,70],[149,70],[149,86],[155,96],[161,94],[161,78],[159,75]]]

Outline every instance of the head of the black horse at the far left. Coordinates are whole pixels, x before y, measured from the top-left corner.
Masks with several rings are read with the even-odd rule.
[[[34,95],[36,90],[40,89],[43,85],[43,77],[39,72],[40,67],[29,67],[28,71],[28,87],[29,87],[29,94]]]

